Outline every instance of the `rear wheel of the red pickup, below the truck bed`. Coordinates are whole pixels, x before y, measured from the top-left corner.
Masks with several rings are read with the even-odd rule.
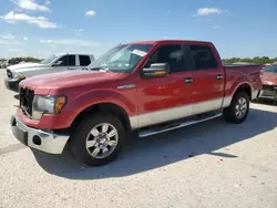
[[[244,103],[239,102],[245,102],[245,105],[243,105]],[[246,107],[245,111],[243,111],[244,110],[243,106]],[[243,114],[238,113],[239,110],[240,112],[243,112]],[[234,95],[230,105],[224,108],[223,115],[226,122],[240,124],[247,118],[248,112],[249,112],[249,95],[246,92],[240,91]]]

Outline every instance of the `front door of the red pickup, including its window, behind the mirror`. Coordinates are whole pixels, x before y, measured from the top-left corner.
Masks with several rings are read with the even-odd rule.
[[[144,67],[153,63],[168,63],[166,77],[140,80],[137,90],[138,127],[158,124],[192,115],[191,84],[186,79],[192,72],[186,67],[186,54],[181,44],[160,45]]]

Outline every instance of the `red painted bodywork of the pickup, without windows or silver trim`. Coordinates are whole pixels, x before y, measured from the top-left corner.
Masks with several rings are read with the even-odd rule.
[[[242,83],[249,83],[253,90],[261,87],[259,66],[223,66],[219,54],[209,42],[197,41],[144,41],[133,44],[154,44],[137,64],[133,73],[68,71],[38,75],[20,83],[34,90],[35,94],[66,95],[68,103],[58,115],[43,115],[40,121],[24,116],[18,110],[18,117],[25,125],[35,128],[59,129],[70,127],[74,118],[86,107],[99,103],[113,103],[121,106],[129,116],[184,106],[213,98],[232,95]],[[151,53],[161,44],[208,44],[216,58],[218,67],[208,71],[187,71],[168,74],[166,77],[142,80],[140,70]],[[224,80],[216,80],[223,74]],[[192,85],[184,79],[193,77]],[[117,86],[135,84],[134,89],[119,90]]]

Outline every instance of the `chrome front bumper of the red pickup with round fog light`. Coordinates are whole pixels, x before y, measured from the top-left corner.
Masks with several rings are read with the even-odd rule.
[[[24,145],[50,154],[62,154],[70,136],[25,126],[17,116],[11,117],[13,135]]]

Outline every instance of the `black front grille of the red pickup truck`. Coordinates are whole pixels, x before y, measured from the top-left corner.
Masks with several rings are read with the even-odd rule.
[[[19,89],[20,107],[28,116],[32,116],[33,96],[34,92],[32,90],[23,87]]]

